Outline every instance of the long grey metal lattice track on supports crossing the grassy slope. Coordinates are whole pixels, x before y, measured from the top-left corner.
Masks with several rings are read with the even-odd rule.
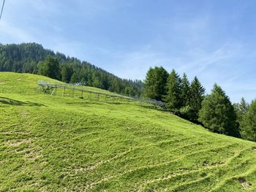
[[[79,97],[81,99],[83,99],[85,96],[85,93],[87,93],[88,99],[92,99],[93,98],[92,95],[94,95],[94,98],[97,100],[99,100],[100,98],[103,98],[106,101],[109,98],[113,98],[113,99],[119,99],[119,101],[121,99],[126,100],[128,102],[140,101],[142,103],[153,104],[154,106],[159,106],[165,109],[165,103],[163,103],[162,101],[157,101],[154,99],[145,99],[140,96],[130,96],[122,93],[109,94],[109,93],[100,93],[97,91],[89,91],[83,88],[78,88],[84,85],[81,83],[54,83],[54,82],[48,82],[45,80],[38,80],[37,85],[39,85],[40,91],[44,93],[50,93],[50,95],[52,96],[56,95],[58,89],[61,89],[63,91],[62,96],[71,95],[72,97],[74,97],[75,91],[76,91],[76,93],[78,92],[80,93]],[[67,93],[68,91],[69,93]]]

